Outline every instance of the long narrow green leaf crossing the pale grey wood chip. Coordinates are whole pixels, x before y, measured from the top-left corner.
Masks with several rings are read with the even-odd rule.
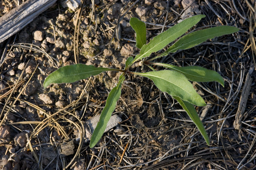
[[[123,75],[123,73],[121,75]],[[94,147],[98,143],[107,127],[111,114],[115,110],[116,102],[121,95],[121,84],[123,80],[124,76],[122,76],[122,78],[119,79],[117,86],[115,86],[108,95],[106,105],[100,114],[100,120],[92,133],[90,148]]]

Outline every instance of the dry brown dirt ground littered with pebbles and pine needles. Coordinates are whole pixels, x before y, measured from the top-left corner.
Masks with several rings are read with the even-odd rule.
[[[2,0],[0,15],[17,2]],[[0,169],[255,169],[255,10],[253,0],[95,0],[75,11],[58,1],[0,44]],[[210,146],[171,96],[134,75],[127,75],[113,113],[119,126],[95,148],[80,143],[76,134],[101,113],[119,73],[44,89],[46,76],[76,62],[123,69],[138,54],[131,17],[146,22],[149,41],[196,14],[206,17],[187,33],[216,25],[240,31],[158,61],[203,66],[224,78],[224,88],[193,83],[207,103],[196,110]]]

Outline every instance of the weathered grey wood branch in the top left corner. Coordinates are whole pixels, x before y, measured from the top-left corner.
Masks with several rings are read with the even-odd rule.
[[[28,0],[0,18],[0,43],[51,7],[57,0]]]

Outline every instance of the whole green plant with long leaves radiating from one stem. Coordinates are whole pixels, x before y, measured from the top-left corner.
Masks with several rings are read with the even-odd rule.
[[[166,56],[171,52],[176,52],[177,50],[184,50],[194,47],[200,44],[201,42],[206,41],[207,39],[212,39],[214,37],[237,32],[239,30],[238,28],[231,26],[219,26],[189,33],[181,37],[164,53],[152,59],[148,59],[142,63],[147,65],[151,69],[153,68],[150,65],[159,65],[168,68],[168,70],[155,71],[153,69],[153,71],[147,73],[135,73],[129,71],[129,68],[133,63],[150,56],[150,54],[153,52],[161,50],[170,42],[176,40],[178,37],[186,33],[203,17],[205,16],[197,15],[188,18],[180,22],[179,24],[174,25],[168,30],[160,33],[159,35],[154,37],[148,44],[146,44],[146,25],[144,24],[144,22],[140,21],[137,18],[131,18],[130,24],[136,33],[136,47],[141,50],[140,53],[135,56],[135,58],[129,57],[127,59],[125,63],[125,68],[123,70],[102,67],[96,68],[93,65],[84,64],[68,65],[65,67],[61,67],[57,71],[51,73],[44,81],[44,88],[46,88],[51,83],[75,82],[80,79],[88,78],[89,76],[98,75],[103,71],[122,72],[121,76],[119,77],[119,82],[117,86],[114,87],[108,95],[106,105],[100,115],[100,120],[92,134],[92,138],[90,141],[90,147],[92,148],[102,137],[103,132],[106,129],[106,125],[110,119],[110,116],[115,109],[116,102],[121,95],[121,84],[125,79],[125,74],[145,76],[153,80],[153,82],[159,88],[159,90],[161,90],[162,92],[167,92],[179,102],[179,104],[187,112],[191,120],[193,120],[195,125],[198,127],[206,143],[209,145],[208,135],[194,108],[194,105],[205,106],[206,104],[203,98],[199,94],[197,94],[190,81],[216,81],[219,82],[222,86],[224,86],[223,78],[217,72],[205,69],[203,67],[177,67],[170,64],[152,62],[152,60],[162,56]]]

